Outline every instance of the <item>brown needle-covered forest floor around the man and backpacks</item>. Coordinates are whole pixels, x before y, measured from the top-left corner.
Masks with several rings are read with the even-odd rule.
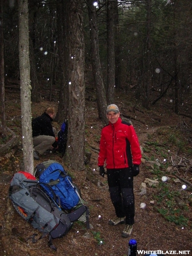
[[[21,135],[20,94],[8,90],[7,125]],[[124,225],[108,225],[115,212],[107,177],[99,176],[97,167],[103,125],[98,119],[96,102],[86,101],[86,151],[92,155],[84,170],[69,172],[90,209],[91,229],[86,230],[82,222],[75,222],[66,236],[54,240],[56,252],[49,248],[47,238],[36,243],[26,241],[37,231],[12,209],[8,198],[9,182],[20,170],[22,161],[22,151],[13,149],[14,157],[9,154],[0,157],[0,256],[126,256],[129,239],[137,240],[137,250],[160,250],[166,255],[183,251],[192,255],[192,123],[187,117],[192,112],[191,106],[185,102],[182,115],[176,115],[170,100],[163,99],[146,110],[139,102],[135,105],[134,97],[125,94],[118,93],[114,103],[119,106],[122,118],[132,121],[143,150],[140,175],[134,178],[135,224],[131,236],[121,237]],[[32,115],[40,115],[47,106],[57,108],[57,101],[42,99],[40,103],[32,103]],[[59,124],[53,122],[53,125],[59,129]],[[67,169],[63,159],[54,154],[35,160],[34,167],[49,159],[57,160]],[[162,181],[163,176],[167,177],[166,182]],[[147,178],[156,180],[157,184],[151,185]],[[141,189],[141,184],[146,185],[146,191]],[[145,203],[144,209],[140,208],[141,203]]]

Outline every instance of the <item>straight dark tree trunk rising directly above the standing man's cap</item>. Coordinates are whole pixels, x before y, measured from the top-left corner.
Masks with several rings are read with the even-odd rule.
[[[108,0],[107,4],[107,44],[108,44],[108,66],[107,66],[107,104],[113,104],[115,89],[115,51],[114,51],[114,4]]]

